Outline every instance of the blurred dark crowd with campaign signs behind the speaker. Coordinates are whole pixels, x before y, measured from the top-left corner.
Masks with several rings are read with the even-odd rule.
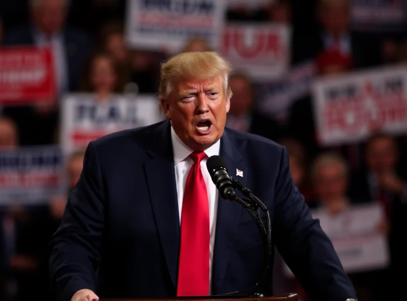
[[[227,126],[287,148],[360,301],[403,296],[407,1],[0,0],[0,300],[53,300],[86,145],[163,119],[160,63],[202,50],[235,70]],[[276,251],[275,293],[307,300]]]

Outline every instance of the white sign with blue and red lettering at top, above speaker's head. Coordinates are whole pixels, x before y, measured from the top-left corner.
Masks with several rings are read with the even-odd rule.
[[[225,0],[129,0],[127,41],[136,48],[176,52],[199,37],[216,49],[225,12]]]

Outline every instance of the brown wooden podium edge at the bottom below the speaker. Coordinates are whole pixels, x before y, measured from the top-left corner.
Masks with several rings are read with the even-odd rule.
[[[301,301],[298,294],[290,293],[282,296],[273,297],[249,297],[249,298],[233,298],[233,297],[214,297],[214,298],[163,298],[163,299],[100,299],[100,301]]]

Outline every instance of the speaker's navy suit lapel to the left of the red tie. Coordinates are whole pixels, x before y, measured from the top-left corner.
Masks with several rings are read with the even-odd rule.
[[[169,122],[158,130],[144,163],[151,205],[172,283],[177,287],[180,218]],[[153,134],[153,135],[154,135]]]

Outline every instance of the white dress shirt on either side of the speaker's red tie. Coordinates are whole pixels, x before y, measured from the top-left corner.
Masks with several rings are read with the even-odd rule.
[[[177,136],[175,131],[171,127],[171,140],[172,149],[174,154],[174,165],[175,165],[175,179],[177,184],[177,196],[178,196],[178,212],[180,216],[181,223],[181,213],[182,213],[182,201],[184,198],[185,184],[187,182],[187,177],[189,170],[192,167],[193,161],[188,156],[192,154],[193,150],[181,141]],[[213,262],[213,249],[215,245],[215,228],[216,228],[216,213],[218,204],[218,190],[215,184],[213,184],[211,175],[209,174],[207,168],[207,160],[211,156],[219,156],[220,140],[218,140],[214,145],[205,150],[207,158],[200,162],[200,168],[203,174],[203,179],[205,179],[205,185],[208,191],[208,202],[209,202],[209,227],[210,227],[210,245],[209,245],[209,287],[211,293],[211,281],[212,281],[212,262]]]

